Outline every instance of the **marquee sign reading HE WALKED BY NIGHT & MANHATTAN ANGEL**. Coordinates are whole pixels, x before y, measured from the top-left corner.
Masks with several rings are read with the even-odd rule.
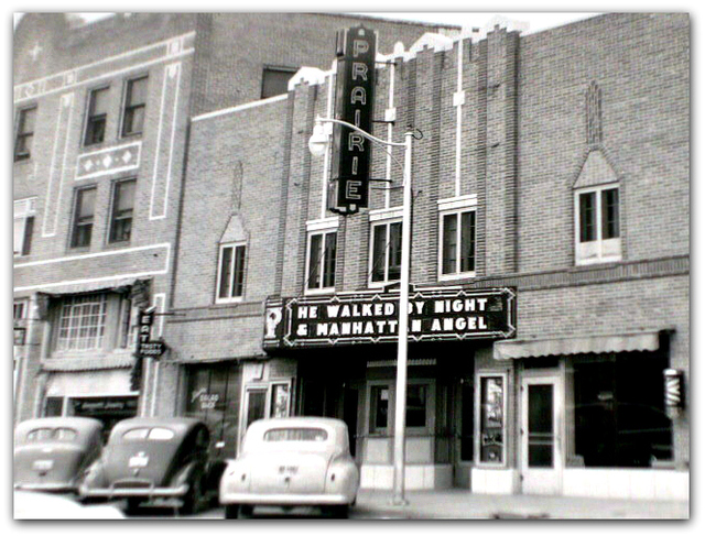
[[[399,293],[269,300],[264,348],[391,342]],[[505,339],[516,333],[512,288],[424,288],[409,297],[409,340]]]

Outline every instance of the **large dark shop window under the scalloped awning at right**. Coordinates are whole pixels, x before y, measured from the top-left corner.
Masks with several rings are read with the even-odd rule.
[[[585,467],[650,467],[673,455],[665,357],[634,352],[574,361],[575,455]]]

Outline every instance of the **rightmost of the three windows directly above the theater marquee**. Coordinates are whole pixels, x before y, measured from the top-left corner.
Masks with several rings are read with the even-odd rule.
[[[441,278],[475,275],[476,211],[441,215]]]

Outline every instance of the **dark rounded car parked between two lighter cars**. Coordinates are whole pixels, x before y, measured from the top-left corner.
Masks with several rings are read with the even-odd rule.
[[[86,500],[127,499],[128,513],[142,503],[194,513],[207,500],[209,433],[184,417],[137,417],[119,422],[79,493]],[[176,503],[176,504],[175,504]]]

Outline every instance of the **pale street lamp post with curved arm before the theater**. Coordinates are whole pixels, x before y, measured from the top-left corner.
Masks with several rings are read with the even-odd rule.
[[[406,430],[406,363],[409,347],[409,272],[411,260],[411,149],[413,132],[404,134],[404,141],[388,142],[373,136],[369,132],[339,119],[316,118],[313,135],[308,140],[308,149],[315,156],[325,153],[329,135],[323,128],[325,123],[337,123],[355,130],[371,142],[389,147],[404,147],[403,163],[403,206],[401,231],[401,277],[399,288],[399,338],[397,348],[397,396],[394,405],[394,488],[392,503],[406,504],[404,499],[404,447]]]

